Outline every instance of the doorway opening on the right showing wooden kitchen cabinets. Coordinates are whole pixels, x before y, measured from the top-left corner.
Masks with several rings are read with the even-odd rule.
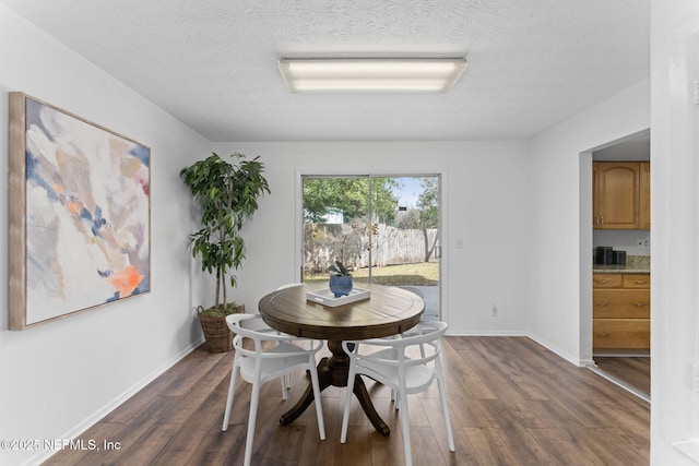
[[[581,354],[647,401],[650,169],[650,130],[581,154]]]

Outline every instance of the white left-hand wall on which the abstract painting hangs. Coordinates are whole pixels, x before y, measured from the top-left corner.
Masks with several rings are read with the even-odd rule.
[[[189,195],[178,170],[209,142],[0,5],[0,439],[66,439],[201,337],[189,303]],[[8,330],[8,93],[21,91],[151,147],[151,294]],[[16,465],[50,451],[0,450]]]

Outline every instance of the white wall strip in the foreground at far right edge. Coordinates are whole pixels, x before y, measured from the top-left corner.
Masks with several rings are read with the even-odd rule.
[[[651,462],[696,464],[673,443],[699,437],[699,3],[652,0],[651,19]]]

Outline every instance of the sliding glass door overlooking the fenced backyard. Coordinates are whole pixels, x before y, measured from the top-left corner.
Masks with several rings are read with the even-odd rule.
[[[413,288],[439,316],[439,176],[304,176],[303,280],[342,261],[355,284]]]

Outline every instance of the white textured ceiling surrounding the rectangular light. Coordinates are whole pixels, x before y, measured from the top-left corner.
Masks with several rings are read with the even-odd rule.
[[[650,0],[0,0],[211,141],[526,139],[650,75]],[[449,94],[289,94],[280,57],[465,56]]]

